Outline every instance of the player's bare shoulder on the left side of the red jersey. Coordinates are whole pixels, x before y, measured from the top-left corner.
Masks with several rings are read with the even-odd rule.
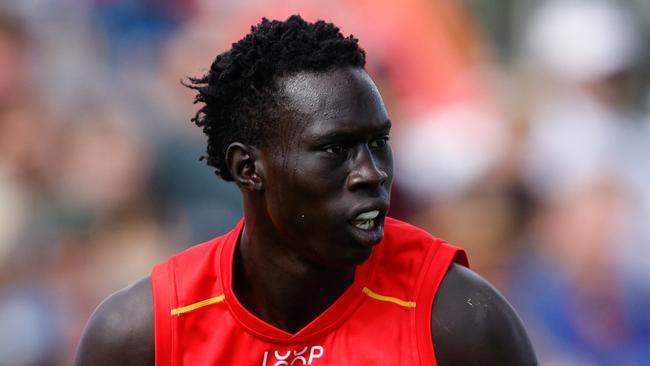
[[[74,365],[153,365],[154,320],[150,278],[104,300],[91,315]]]

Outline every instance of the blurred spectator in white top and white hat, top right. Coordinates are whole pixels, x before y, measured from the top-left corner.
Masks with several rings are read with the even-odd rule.
[[[526,47],[537,88],[524,173],[541,200],[595,176],[617,177],[634,204],[617,240],[634,253],[624,254],[626,267],[647,279],[650,121],[631,103],[632,75],[646,52],[640,32],[618,3],[551,1],[539,9]]]

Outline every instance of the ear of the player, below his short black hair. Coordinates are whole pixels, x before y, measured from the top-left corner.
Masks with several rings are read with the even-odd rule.
[[[263,164],[258,149],[233,142],[226,149],[226,163],[230,175],[240,188],[264,190]]]

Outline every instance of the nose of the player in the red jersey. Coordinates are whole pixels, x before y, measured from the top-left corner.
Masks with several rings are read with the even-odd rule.
[[[352,164],[347,180],[350,191],[376,191],[388,179],[388,173],[376,163],[368,146],[359,149]]]

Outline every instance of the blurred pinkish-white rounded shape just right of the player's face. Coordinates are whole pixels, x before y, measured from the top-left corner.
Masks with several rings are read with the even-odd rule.
[[[467,194],[504,158],[508,136],[501,122],[485,106],[465,102],[404,127],[395,159],[407,194],[426,203]]]

